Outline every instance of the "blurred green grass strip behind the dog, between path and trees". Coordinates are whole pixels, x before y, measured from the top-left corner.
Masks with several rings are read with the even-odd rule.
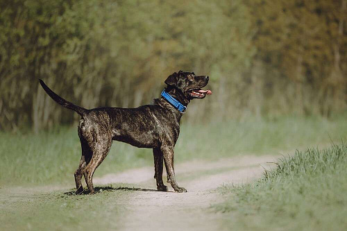
[[[347,114],[332,119],[282,117],[228,123],[185,124],[175,148],[175,161],[215,160],[242,154],[278,154],[293,147],[321,146],[347,138]],[[76,128],[11,134],[0,132],[0,185],[67,184],[81,158]],[[94,176],[153,164],[151,149],[114,142]]]

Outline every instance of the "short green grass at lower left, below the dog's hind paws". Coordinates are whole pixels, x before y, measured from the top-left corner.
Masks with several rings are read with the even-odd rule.
[[[30,190],[30,189],[29,189]],[[0,230],[121,230],[128,187],[96,187],[97,193],[1,191]]]

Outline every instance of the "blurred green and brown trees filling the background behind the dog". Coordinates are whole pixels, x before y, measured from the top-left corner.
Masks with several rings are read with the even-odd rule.
[[[346,0],[0,0],[0,130],[77,118],[38,78],[85,108],[137,107],[179,69],[212,78],[187,121],[330,117],[346,109],[346,24]]]

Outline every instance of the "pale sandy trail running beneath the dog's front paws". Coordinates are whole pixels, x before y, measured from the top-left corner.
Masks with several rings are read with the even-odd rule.
[[[216,189],[225,183],[240,184],[262,176],[273,167],[275,156],[239,156],[217,162],[192,161],[175,166],[176,180],[187,193],[155,190],[137,191],[126,203],[129,212],[121,230],[221,230],[223,216],[210,205],[221,202]],[[156,189],[154,169],[144,167],[95,178],[96,184],[132,183],[142,189]],[[225,218],[224,218],[225,219]]]

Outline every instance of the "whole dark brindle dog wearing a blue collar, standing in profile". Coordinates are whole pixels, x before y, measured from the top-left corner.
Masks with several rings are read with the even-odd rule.
[[[180,134],[180,119],[192,99],[203,99],[212,94],[202,88],[208,85],[209,76],[196,76],[194,72],[178,71],[171,74],[159,99],[139,108],[94,108],[87,110],[74,105],[47,87],[44,91],[65,108],[81,115],[78,137],[81,141],[82,157],[74,173],[76,194],[83,192],[82,176],[94,194],[92,177],[96,168],[110,151],[112,140],[125,142],[138,148],[153,148],[154,178],[158,191],[167,191],[162,180],[163,160],[167,169],[167,182],[176,192],[186,192],[178,187],[174,170],[174,146]]]

